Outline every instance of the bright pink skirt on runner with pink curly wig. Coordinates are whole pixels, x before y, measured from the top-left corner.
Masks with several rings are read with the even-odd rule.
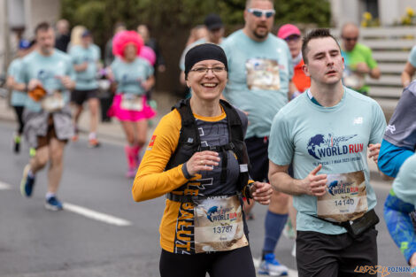
[[[121,95],[114,96],[112,106],[107,112],[109,117],[115,117],[121,121],[138,121],[143,119],[151,119],[156,115],[156,112],[147,104],[146,96],[142,96],[143,110],[140,112],[125,110],[120,107]]]

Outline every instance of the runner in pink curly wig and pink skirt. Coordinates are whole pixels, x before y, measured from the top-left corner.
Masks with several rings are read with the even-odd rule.
[[[156,115],[146,98],[146,91],[155,84],[154,69],[146,59],[138,57],[142,47],[142,37],[135,31],[115,35],[112,50],[117,58],[108,70],[109,79],[117,86],[108,115],[119,119],[127,137],[127,178],[135,177],[139,152],[147,140],[148,119]]]

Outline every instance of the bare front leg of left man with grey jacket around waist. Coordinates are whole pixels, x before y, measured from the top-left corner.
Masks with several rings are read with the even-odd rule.
[[[64,149],[65,142],[60,142],[52,138],[49,144],[50,148],[50,168],[48,172],[48,192],[56,194],[61,181],[62,171],[64,168]]]

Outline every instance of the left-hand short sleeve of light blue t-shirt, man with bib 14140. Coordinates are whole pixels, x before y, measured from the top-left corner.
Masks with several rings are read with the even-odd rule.
[[[289,165],[295,148],[289,134],[288,119],[282,112],[278,112],[273,119],[269,141],[269,159],[275,165]]]

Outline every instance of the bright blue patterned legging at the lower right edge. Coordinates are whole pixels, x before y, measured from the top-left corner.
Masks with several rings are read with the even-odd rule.
[[[403,253],[407,262],[416,252],[416,235],[409,213],[414,210],[414,205],[405,203],[398,198],[393,190],[384,203],[384,220],[391,238]]]

